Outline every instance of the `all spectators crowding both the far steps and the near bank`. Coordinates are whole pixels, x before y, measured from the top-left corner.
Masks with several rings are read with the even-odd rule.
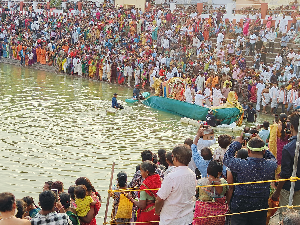
[[[113,190],[134,187],[160,190],[138,193],[124,190],[134,204],[133,211],[137,210],[128,219],[117,216],[122,192],[113,192],[111,218],[121,224],[158,220],[160,224],[170,225],[267,224],[275,213],[272,210],[231,217],[194,220],[193,217],[287,205],[289,181],[238,185],[235,188],[226,184],[292,176],[300,117],[296,109],[300,106],[297,91],[300,46],[296,54],[296,49],[289,49],[287,44],[299,44],[298,11],[294,11],[293,27],[286,34],[287,19],[283,18],[277,28],[271,27],[272,15],[266,24],[262,24],[259,10],[255,11],[257,19],[251,20],[246,14],[243,24],[240,24],[224,23],[225,8],[222,6],[209,18],[201,18],[193,9],[171,12],[150,4],[143,12],[135,7],[115,7],[107,2],[99,8],[93,3],[85,4],[85,15],[77,8],[68,8],[76,10],[73,16],[48,17],[45,11],[36,13],[30,5],[24,16],[6,14],[3,10],[1,57],[20,60],[21,65],[29,67],[40,63],[53,66],[60,73],[129,87],[134,83],[135,90],[140,86],[142,89],[154,88],[157,96],[161,96],[163,81],[181,77],[187,79],[187,87],[179,85],[173,91],[175,98],[202,106],[204,102],[207,107],[222,105],[229,92],[234,90],[243,97],[243,108],[249,122],[256,121],[260,102],[264,113],[267,113],[265,107],[270,103],[272,114],[276,114],[280,105],[282,112],[285,105],[288,106],[288,115],[280,114],[273,125],[265,121],[262,128],[245,128],[244,133],[255,134],[250,140],[243,140],[243,135],[236,139],[219,136],[219,148],[214,153],[210,146],[216,143],[216,139],[204,140],[202,127],[194,140],[185,140],[172,152],[159,149],[157,157],[149,150],[143,151],[143,162],[137,166],[132,181],[127,183],[127,173],[120,171],[118,185]],[[274,52],[279,35],[282,35],[281,51],[276,58],[267,57]],[[225,36],[229,44],[225,44]],[[217,40],[213,42],[213,38]],[[244,55],[254,56],[252,62],[246,61]],[[159,82],[155,83],[157,80]],[[253,103],[257,103],[256,110]],[[290,113],[292,107],[294,112]],[[287,129],[288,121],[290,129]],[[299,163],[297,176],[300,177]],[[295,183],[293,205],[300,205],[300,181]],[[224,186],[195,189],[210,184]],[[62,182],[46,182],[38,205],[31,197],[15,199],[12,193],[0,194],[0,225],[79,224],[79,221],[94,225],[101,196],[85,177],[79,178],[76,186],[68,189],[68,194],[64,193]],[[281,224],[296,224],[287,221],[298,221],[299,212],[287,213],[285,220],[285,210],[280,208]]]

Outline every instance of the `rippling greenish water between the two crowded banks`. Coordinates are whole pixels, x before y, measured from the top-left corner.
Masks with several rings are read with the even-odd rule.
[[[113,162],[114,179],[126,171],[130,181],[141,163],[142,151],[171,151],[197,132],[196,127],[182,124],[179,116],[142,103],[125,103],[132,91],[1,63],[0,193],[13,192],[16,198],[32,196],[38,204],[44,182],[60,180],[67,191],[77,178],[86,176],[102,197],[97,218],[101,224]],[[106,113],[114,92],[125,107],[116,115]],[[264,120],[271,122],[273,117],[258,115],[257,122]],[[109,216],[111,208],[110,204]]]

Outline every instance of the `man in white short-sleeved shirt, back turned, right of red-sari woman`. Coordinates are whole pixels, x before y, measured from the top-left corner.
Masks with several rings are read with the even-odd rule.
[[[200,132],[198,133],[200,135]],[[200,138],[198,133],[194,141],[194,148],[197,148],[196,145]],[[190,146],[183,144],[175,146],[172,154],[173,164],[176,168],[165,176],[161,189],[157,192],[155,214],[160,215],[159,223],[161,225],[191,224],[194,216],[193,198],[197,185],[196,175],[188,167],[192,151]]]

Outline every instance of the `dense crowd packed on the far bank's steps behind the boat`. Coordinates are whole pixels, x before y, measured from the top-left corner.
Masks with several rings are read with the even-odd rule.
[[[129,87],[140,85],[143,90],[154,88],[155,95],[160,95],[160,85],[154,84],[155,79],[161,83],[162,78],[167,81],[174,76],[182,77],[195,90],[191,91],[191,101],[188,96],[189,102],[195,102],[196,93],[204,96],[206,92],[204,99],[208,107],[222,104],[228,92],[234,90],[243,100],[257,103],[256,110],[260,111],[260,103],[262,107],[272,103],[276,113],[277,92],[273,91],[270,98],[269,89],[265,90],[265,97],[262,90],[267,88],[267,83],[270,90],[276,89],[276,82],[281,94],[279,89],[285,85],[286,98],[279,103],[288,104],[288,92],[296,85],[288,111],[297,106],[294,103],[298,98],[300,52],[296,54],[296,49],[289,49],[287,44],[300,42],[298,10],[293,15],[295,23],[286,34],[286,19],[277,28],[271,27],[270,14],[268,22],[262,24],[259,9],[255,11],[256,20],[246,15],[240,24],[224,23],[222,6],[216,9],[215,15],[205,19],[196,10],[171,12],[150,5],[143,12],[134,7],[114,7],[106,1],[100,8],[89,2],[84,4],[84,16],[76,8],[72,8],[76,13],[70,17],[48,17],[47,13],[36,13],[33,7],[28,7],[23,16],[3,11],[1,56],[20,60],[21,65],[29,67],[44,64],[60,73]],[[281,52],[275,59],[270,58],[268,54],[276,52],[274,43],[278,35],[282,35]],[[229,44],[225,44],[225,37]],[[213,42],[213,38],[217,40]],[[246,61],[244,56],[254,57]],[[182,88],[186,92],[187,88]],[[214,101],[214,97],[219,101]],[[180,98],[184,100],[186,96]],[[275,114],[273,110],[271,113]]]

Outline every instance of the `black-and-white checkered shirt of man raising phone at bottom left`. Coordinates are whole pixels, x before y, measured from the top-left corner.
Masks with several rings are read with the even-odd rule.
[[[37,214],[30,220],[32,225],[72,225],[66,213],[51,212],[47,215]]]

